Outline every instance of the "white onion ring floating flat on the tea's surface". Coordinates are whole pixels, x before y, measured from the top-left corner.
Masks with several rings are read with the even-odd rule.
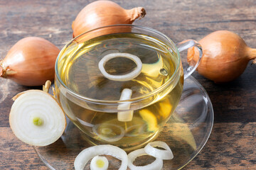
[[[136,69],[134,69],[132,72],[129,72],[128,74],[124,74],[124,75],[108,74],[105,70],[105,64],[107,63],[107,61],[109,61],[113,58],[116,58],[116,57],[124,57],[124,58],[128,58],[128,59],[134,61],[135,64],[137,65]],[[103,74],[104,77],[106,77],[107,79],[110,79],[110,80],[114,80],[114,81],[129,81],[129,80],[137,77],[140,74],[140,72],[142,72],[142,61],[136,55],[131,55],[129,53],[117,52],[117,53],[111,53],[109,55],[105,55],[104,57],[102,57],[102,60],[100,60],[98,66],[99,66],[100,72]]]

